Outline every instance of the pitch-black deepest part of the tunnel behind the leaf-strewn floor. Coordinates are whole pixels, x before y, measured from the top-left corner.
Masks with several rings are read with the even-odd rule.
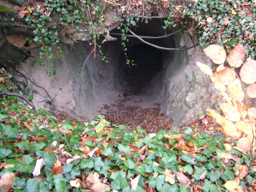
[[[150,82],[162,67],[162,52],[147,44],[136,44],[127,47],[126,55],[133,60],[133,64],[126,63],[124,52],[120,53],[120,68],[124,71],[123,96],[137,95],[144,91],[145,86]]]

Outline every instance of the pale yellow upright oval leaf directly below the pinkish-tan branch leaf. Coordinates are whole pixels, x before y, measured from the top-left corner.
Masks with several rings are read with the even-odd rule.
[[[238,101],[242,101],[244,98],[244,93],[242,91],[242,85],[238,78],[235,78],[231,84],[227,86],[227,90],[232,95],[232,98]]]

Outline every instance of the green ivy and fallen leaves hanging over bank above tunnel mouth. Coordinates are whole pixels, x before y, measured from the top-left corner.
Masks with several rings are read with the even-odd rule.
[[[187,32],[189,27],[195,28],[202,47],[216,43],[230,52],[231,48],[240,42],[244,46],[246,57],[255,57],[256,5],[251,1],[191,0],[177,4],[176,0],[139,0],[133,3],[115,3],[107,0],[45,0],[42,5],[30,4],[20,7],[19,17],[26,15],[25,20],[35,35],[33,40],[41,44],[39,64],[48,64],[52,68],[54,61],[60,59],[64,53],[57,45],[62,37],[72,41],[78,33],[86,31],[91,38],[83,39],[79,36],[80,40],[91,40],[90,43],[96,45],[95,39],[100,36],[99,28],[103,27],[108,19],[109,10],[114,12],[114,23],[104,27],[108,27],[108,30],[116,26],[120,28],[125,52],[125,42],[128,38],[124,33],[138,21],[135,8],[142,8],[143,14],[153,10],[154,14],[157,14],[157,11],[165,13],[167,17],[163,21],[163,29],[179,26]],[[116,15],[121,15],[122,19],[117,20]],[[121,25],[122,22],[126,25]],[[56,58],[53,57],[49,45],[56,46]],[[100,45],[98,47],[100,48]],[[100,54],[103,53],[100,51]],[[45,56],[47,63],[42,60]],[[104,57],[102,58],[104,60]],[[127,63],[132,63],[127,55],[126,59]],[[47,74],[50,75],[50,71]],[[55,74],[54,70],[52,74]]]

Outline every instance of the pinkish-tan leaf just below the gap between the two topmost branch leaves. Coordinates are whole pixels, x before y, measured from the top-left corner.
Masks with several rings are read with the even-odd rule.
[[[235,72],[231,68],[225,67],[223,70],[215,72],[214,76],[219,82],[229,85],[235,79]]]

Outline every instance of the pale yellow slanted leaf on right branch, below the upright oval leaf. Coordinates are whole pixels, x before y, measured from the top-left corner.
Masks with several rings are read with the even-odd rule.
[[[226,119],[233,121],[233,122],[237,122],[240,120],[241,115],[240,115],[240,112],[239,112],[237,106],[234,106],[233,104],[227,103],[227,102],[223,102],[219,106],[220,106],[223,114],[225,115]]]

